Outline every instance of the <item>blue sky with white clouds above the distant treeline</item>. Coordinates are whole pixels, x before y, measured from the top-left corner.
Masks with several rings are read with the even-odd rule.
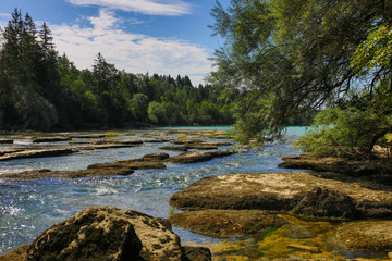
[[[208,25],[215,0],[0,0],[0,26],[15,8],[47,23],[59,54],[91,69],[100,52],[128,73],[189,76],[204,84],[223,41]]]

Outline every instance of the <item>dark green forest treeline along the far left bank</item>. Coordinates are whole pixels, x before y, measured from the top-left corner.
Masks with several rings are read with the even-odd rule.
[[[187,76],[132,74],[98,53],[91,70],[59,55],[49,27],[15,9],[1,32],[3,129],[232,124],[233,104]]]

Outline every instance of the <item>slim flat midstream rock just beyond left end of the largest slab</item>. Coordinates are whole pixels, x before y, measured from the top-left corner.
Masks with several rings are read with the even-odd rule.
[[[179,156],[169,158],[168,161],[171,163],[194,163],[211,160],[215,157],[230,156],[234,152],[216,150],[216,151],[187,151]]]

